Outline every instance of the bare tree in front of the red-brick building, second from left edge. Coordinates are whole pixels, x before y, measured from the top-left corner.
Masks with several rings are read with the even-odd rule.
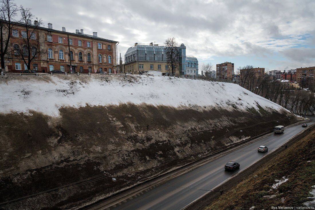
[[[38,27],[40,27],[43,22],[41,19],[37,20],[34,25],[31,24],[31,19],[34,19],[34,15],[31,13],[30,8],[20,7],[21,20],[25,28],[25,31],[20,33],[20,43],[14,44],[14,55],[20,57],[27,66],[29,73],[32,73],[31,63],[35,59],[39,59],[39,56],[43,56],[46,50],[41,46],[44,45],[44,41],[39,39]],[[21,46],[21,47],[20,47]]]

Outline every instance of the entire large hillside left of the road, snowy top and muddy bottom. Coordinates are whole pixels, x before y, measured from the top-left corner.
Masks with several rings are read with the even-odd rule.
[[[299,120],[203,80],[9,75],[0,89],[0,209],[77,209]]]

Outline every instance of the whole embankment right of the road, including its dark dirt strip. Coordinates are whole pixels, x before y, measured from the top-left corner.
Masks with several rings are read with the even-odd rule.
[[[287,145],[218,187],[223,195],[211,192],[185,210],[303,207],[315,185],[314,126]]]

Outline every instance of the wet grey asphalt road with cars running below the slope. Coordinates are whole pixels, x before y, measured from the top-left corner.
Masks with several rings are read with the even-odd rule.
[[[315,118],[312,120],[315,120]],[[236,149],[190,172],[172,178],[150,191],[144,191],[143,194],[138,194],[138,196],[134,197],[132,200],[128,199],[127,202],[121,202],[119,203],[120,205],[118,204],[116,207],[100,207],[97,209],[183,209],[193,201],[207,194],[209,190],[215,189],[232,178],[232,176],[245,170],[247,167],[260,160],[264,155],[272,153],[277,147],[284,145],[290,138],[303,129],[307,129],[303,128],[301,124],[286,128],[282,134],[273,134],[263,137],[247,146]],[[312,125],[314,122],[308,122],[307,124]],[[267,153],[258,153],[257,148],[260,145],[267,146],[269,151]],[[238,162],[240,169],[234,172],[225,171],[224,165],[230,160]]]

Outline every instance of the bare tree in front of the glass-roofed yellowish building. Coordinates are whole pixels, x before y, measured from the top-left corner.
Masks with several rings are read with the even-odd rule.
[[[172,74],[174,74],[175,70],[179,68],[178,43],[174,37],[169,37],[165,40],[164,44],[166,45],[166,61],[172,68]]]

